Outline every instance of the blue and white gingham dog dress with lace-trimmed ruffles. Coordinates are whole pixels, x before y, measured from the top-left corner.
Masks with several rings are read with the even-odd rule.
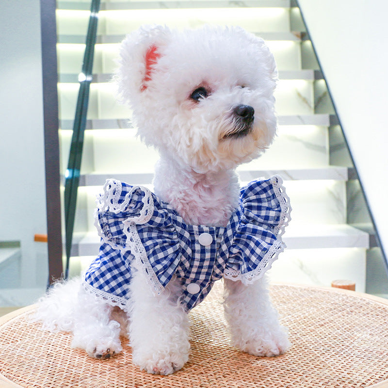
[[[85,274],[87,291],[125,306],[134,260],[155,294],[176,277],[180,303],[195,307],[218,279],[249,284],[285,248],[290,203],[278,176],[243,187],[226,227],[186,224],[168,204],[142,186],[109,179],[97,197],[98,257]]]

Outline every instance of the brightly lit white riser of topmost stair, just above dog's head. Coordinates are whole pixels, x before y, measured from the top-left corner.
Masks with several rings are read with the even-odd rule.
[[[163,2],[164,3],[164,2]],[[200,1],[198,3],[210,5],[211,1]],[[226,2],[225,2],[226,3]],[[123,4],[123,3],[120,3]],[[133,3],[130,3],[133,4]],[[155,3],[157,4],[157,3]],[[180,4],[192,5],[191,2],[181,2]],[[290,12],[286,8],[267,8],[258,11],[251,7],[213,7],[208,12],[201,8],[190,6],[190,8],[162,8],[156,5],[153,9],[146,8],[147,3],[142,2],[141,6],[121,7],[121,9],[101,11],[99,13],[99,23],[97,34],[102,35],[124,35],[129,31],[136,30],[142,25],[162,24],[171,28],[183,29],[188,25],[199,27],[203,24],[232,25],[238,20],[238,24],[252,32],[290,32]],[[85,34],[90,12],[82,10],[62,10],[56,12],[57,34],[62,35],[82,35]]]

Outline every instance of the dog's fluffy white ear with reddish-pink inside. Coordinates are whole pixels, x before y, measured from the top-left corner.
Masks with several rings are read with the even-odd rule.
[[[123,40],[114,81],[124,102],[130,102],[147,90],[170,39],[171,31],[167,27],[144,26]]]

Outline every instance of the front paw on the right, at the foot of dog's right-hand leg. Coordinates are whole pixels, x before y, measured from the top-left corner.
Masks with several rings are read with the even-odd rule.
[[[291,347],[287,329],[279,326],[278,330],[266,332],[262,336],[254,336],[240,345],[243,352],[253,356],[279,356],[287,352]]]

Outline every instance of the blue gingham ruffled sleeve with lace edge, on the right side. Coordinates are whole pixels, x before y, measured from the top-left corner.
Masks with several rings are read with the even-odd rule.
[[[274,176],[242,188],[240,209],[226,230],[230,240],[226,278],[252,283],[271,268],[286,247],[281,237],[291,220],[291,206],[282,183],[279,176]],[[233,239],[228,229],[235,229]]]

